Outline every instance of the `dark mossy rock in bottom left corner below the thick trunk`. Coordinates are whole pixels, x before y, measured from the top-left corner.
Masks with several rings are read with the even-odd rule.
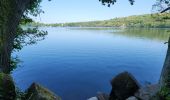
[[[0,100],[15,100],[15,84],[10,75],[0,73]]]

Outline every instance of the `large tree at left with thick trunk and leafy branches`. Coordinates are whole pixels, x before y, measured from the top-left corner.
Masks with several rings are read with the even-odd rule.
[[[9,73],[11,70],[11,53],[14,49],[21,49],[27,44],[24,38],[30,38],[30,43],[35,43],[35,37],[43,37],[46,33],[37,28],[22,30],[20,23],[32,21],[28,14],[37,16],[42,12],[42,0],[0,0],[0,70]],[[37,33],[37,34],[33,34]]]

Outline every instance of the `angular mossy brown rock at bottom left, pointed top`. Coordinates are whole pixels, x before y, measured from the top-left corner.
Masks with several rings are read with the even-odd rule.
[[[61,100],[53,92],[42,87],[39,84],[33,83],[26,92],[26,100]]]

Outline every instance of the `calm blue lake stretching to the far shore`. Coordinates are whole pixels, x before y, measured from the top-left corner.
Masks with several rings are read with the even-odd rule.
[[[14,53],[22,60],[12,76],[25,90],[37,82],[63,100],[86,100],[111,90],[123,71],[141,85],[156,83],[166,56],[168,29],[52,28],[46,39]]]

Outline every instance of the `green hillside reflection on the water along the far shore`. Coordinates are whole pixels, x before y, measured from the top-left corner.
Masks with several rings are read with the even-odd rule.
[[[116,28],[116,27],[83,27],[71,28],[76,30],[110,30],[110,33],[124,35],[128,37],[148,38],[155,40],[167,41],[170,36],[170,29],[168,28]]]

